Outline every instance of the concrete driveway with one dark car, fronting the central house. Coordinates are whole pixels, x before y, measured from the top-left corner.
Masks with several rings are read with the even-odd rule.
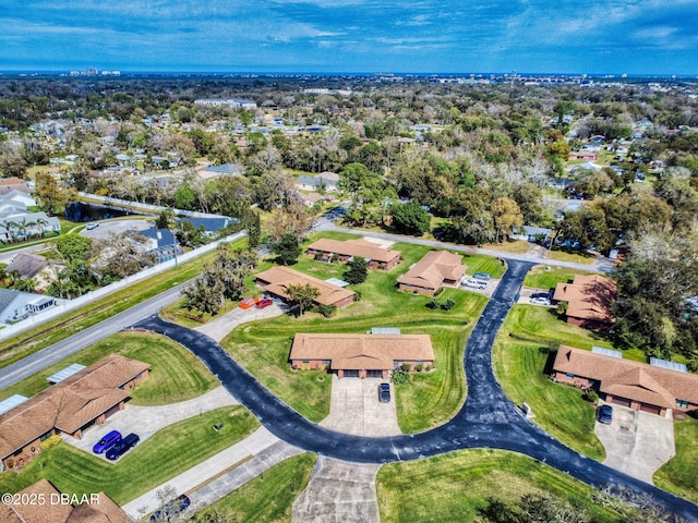
[[[329,376],[326,376],[329,379]],[[332,376],[329,415],[320,425],[356,436],[397,436],[395,389],[390,384],[390,401],[378,401],[378,386],[388,382],[378,378],[342,378]]]

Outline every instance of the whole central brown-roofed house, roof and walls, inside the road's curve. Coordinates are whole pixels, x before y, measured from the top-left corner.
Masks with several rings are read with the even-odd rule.
[[[298,333],[289,360],[293,368],[327,369],[339,378],[387,379],[404,363],[433,366],[434,349],[429,335]]]

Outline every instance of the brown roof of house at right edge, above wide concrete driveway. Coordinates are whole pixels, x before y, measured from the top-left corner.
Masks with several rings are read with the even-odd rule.
[[[600,381],[601,392],[652,405],[698,404],[698,376],[561,345],[553,369]]]

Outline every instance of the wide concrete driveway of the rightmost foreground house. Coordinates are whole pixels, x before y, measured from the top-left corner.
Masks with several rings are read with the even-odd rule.
[[[649,484],[676,454],[671,417],[613,405],[611,424],[597,422],[594,433],[606,450],[605,465]]]

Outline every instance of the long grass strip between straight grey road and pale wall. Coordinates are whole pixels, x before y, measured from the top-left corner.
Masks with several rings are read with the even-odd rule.
[[[243,239],[236,245],[242,246],[245,242]],[[208,253],[1,341],[0,368],[194,278],[201,273],[204,264],[214,257],[215,253]]]

